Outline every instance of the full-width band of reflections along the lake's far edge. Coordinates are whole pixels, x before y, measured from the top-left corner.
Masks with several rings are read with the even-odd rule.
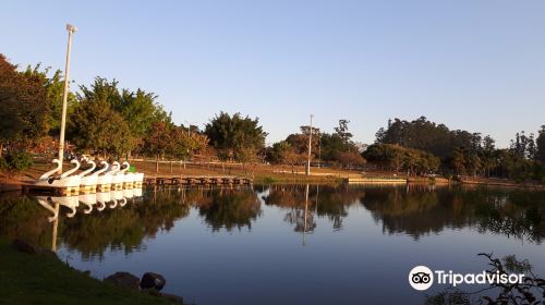
[[[84,260],[105,253],[144,249],[146,237],[169,232],[195,210],[214,232],[249,230],[264,207],[303,235],[318,225],[344,230],[352,208],[368,211],[383,234],[414,240],[446,229],[472,228],[541,244],[545,236],[545,192],[484,187],[335,187],[270,185],[233,188],[141,188],[72,197],[0,197],[0,234],[57,248],[57,236]],[[322,219],[322,220],[320,220]],[[52,236],[52,237],[51,237]]]

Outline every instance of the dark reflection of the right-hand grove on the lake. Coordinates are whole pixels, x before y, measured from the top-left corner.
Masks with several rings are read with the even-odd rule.
[[[388,234],[417,240],[445,228],[476,228],[541,244],[545,236],[545,193],[496,187],[408,186],[367,188],[362,202]]]

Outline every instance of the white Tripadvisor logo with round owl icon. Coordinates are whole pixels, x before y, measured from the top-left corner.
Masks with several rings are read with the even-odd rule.
[[[426,266],[416,266],[409,272],[409,283],[415,290],[424,291],[434,284],[434,278],[437,284],[448,284],[456,286],[458,284],[521,284],[524,281],[524,273],[500,273],[482,271],[481,273],[456,273],[444,270],[435,270]]]

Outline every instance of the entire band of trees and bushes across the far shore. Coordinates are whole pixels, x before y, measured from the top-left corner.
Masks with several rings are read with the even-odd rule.
[[[0,54],[3,175],[27,171],[33,167],[33,156],[50,160],[57,155],[62,83],[60,71],[51,73],[40,64],[21,70]],[[545,183],[545,125],[535,134],[516,133],[509,148],[496,148],[488,135],[450,130],[424,117],[389,120],[376,133],[375,143],[367,146],[352,139],[349,123],[339,120],[330,133],[313,126],[313,170],[319,164],[323,172],[334,171],[339,176],[340,172],[365,172],[414,179],[438,175],[449,181],[494,178]],[[170,162],[170,172],[174,162],[218,162],[223,171],[226,166],[240,163],[239,173],[256,174],[263,181],[282,180],[282,175],[256,169],[267,166],[293,174],[304,171],[310,133],[311,127],[303,125],[284,141],[266,146],[267,133],[257,118],[223,111],[203,130],[178,125],[154,93],[120,88],[117,81],[98,76],[93,84],[80,85],[69,94],[68,155],[154,159],[156,172],[159,161]]]

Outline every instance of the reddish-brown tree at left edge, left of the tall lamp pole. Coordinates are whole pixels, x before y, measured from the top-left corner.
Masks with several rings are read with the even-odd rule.
[[[0,54],[0,156],[4,146],[27,147],[49,131],[50,99],[36,75],[16,71]]]

